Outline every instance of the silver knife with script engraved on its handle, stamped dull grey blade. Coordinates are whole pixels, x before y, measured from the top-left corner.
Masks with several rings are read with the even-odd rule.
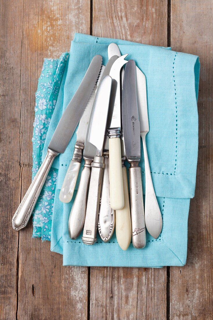
[[[126,158],[130,163],[130,205],[132,218],[132,242],[135,248],[146,245],[146,228],[143,207],[141,181],[141,136],[137,100],[136,67],[134,60],[129,60],[124,71],[122,92],[122,121]]]

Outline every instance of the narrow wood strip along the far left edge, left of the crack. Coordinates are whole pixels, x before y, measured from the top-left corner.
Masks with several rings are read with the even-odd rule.
[[[0,7],[0,319],[15,319],[18,233],[12,231],[11,219],[20,200],[21,183],[19,90],[23,1],[1,1]]]

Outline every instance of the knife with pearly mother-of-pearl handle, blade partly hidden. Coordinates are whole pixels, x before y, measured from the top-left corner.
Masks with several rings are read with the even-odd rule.
[[[100,80],[104,66],[101,68],[100,75],[98,77],[98,81]],[[67,169],[65,179],[63,181],[60,193],[59,193],[59,200],[63,203],[68,203],[72,200],[73,192],[75,190],[76,181],[78,178],[79,170],[80,170],[80,164],[82,159],[82,154],[84,150],[84,140],[87,132],[87,124],[89,121],[89,115],[92,109],[93,100],[95,97],[95,92],[97,89],[97,84],[95,89],[93,90],[93,93],[91,94],[89,101],[86,105],[86,108],[84,110],[84,113],[80,119],[78,129],[76,131],[76,143],[74,147],[74,152],[72,156],[72,160],[69,164],[69,167]]]

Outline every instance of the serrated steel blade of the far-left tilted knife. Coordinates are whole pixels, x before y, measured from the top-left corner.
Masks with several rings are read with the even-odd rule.
[[[57,153],[65,152],[98,79],[101,65],[102,57],[96,55],[91,61],[78,90],[68,104],[56,127],[48,146],[50,150]]]

